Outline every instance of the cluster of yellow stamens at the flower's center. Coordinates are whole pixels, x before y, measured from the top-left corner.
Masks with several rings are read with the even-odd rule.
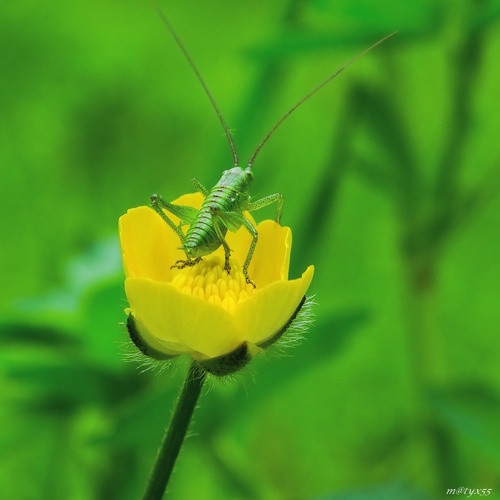
[[[219,256],[205,257],[198,264],[179,270],[172,285],[182,293],[233,312],[237,304],[253,295],[254,288],[246,282],[240,265],[233,259],[229,262],[228,274]]]

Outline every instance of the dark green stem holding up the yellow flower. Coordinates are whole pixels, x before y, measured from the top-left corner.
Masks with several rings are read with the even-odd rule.
[[[205,370],[200,368],[199,365],[195,362],[191,363],[174,414],[158,450],[143,500],[160,500],[163,498],[206,375]]]

